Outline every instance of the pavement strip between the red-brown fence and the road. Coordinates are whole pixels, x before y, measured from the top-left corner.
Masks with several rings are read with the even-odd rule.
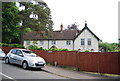
[[[81,72],[81,71],[73,71],[73,70],[68,70],[60,67],[55,67],[51,65],[46,65],[43,70],[61,76],[61,77],[66,77],[70,79],[118,79],[120,80],[119,75],[101,75],[101,74],[96,74],[96,73],[90,73],[90,72]]]

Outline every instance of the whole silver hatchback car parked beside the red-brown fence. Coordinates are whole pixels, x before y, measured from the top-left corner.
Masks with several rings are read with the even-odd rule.
[[[45,60],[31,50],[12,49],[5,57],[5,63],[21,65],[23,69],[44,68]]]

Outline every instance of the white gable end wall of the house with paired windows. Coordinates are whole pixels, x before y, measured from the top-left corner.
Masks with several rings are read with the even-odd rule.
[[[81,39],[84,39],[84,45],[81,45]],[[88,44],[88,41],[91,41],[91,45]],[[94,49],[98,51],[98,40],[97,38],[87,29],[85,29],[74,42],[74,49],[81,49],[82,51]]]

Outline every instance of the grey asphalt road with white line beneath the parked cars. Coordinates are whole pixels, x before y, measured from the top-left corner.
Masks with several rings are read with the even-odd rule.
[[[45,70],[23,70],[18,65],[5,64],[2,60],[0,62],[2,63],[2,72],[0,72],[2,79],[67,79],[66,77],[58,76]]]

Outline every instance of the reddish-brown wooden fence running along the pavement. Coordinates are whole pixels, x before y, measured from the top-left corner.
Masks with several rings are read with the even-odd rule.
[[[11,48],[3,48],[5,52]],[[120,75],[119,52],[77,52],[77,51],[40,51],[32,50],[46,62],[57,62],[79,68],[80,71]]]

